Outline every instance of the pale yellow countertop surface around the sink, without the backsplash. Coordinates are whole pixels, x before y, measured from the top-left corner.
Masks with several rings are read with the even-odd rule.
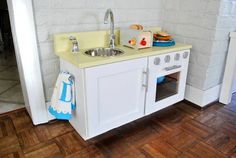
[[[180,44],[177,43],[175,46],[170,47],[152,47],[152,48],[146,48],[142,50],[135,50],[132,48],[124,47],[124,46],[117,46],[116,48],[119,48],[123,50],[125,53],[118,56],[113,57],[91,57],[84,52],[86,50],[80,50],[77,54],[72,54],[71,52],[55,52],[61,59],[64,59],[71,64],[77,66],[78,68],[88,68],[88,67],[94,67],[98,65],[103,64],[109,64],[119,61],[125,61],[130,59],[137,59],[142,57],[148,57],[148,56],[154,56],[164,53],[170,53],[175,51],[181,51],[192,48],[191,45],[186,44]]]

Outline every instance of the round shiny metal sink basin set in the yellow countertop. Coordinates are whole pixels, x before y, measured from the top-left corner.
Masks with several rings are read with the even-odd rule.
[[[110,57],[124,54],[124,51],[117,48],[93,48],[85,51],[84,53],[92,57]]]

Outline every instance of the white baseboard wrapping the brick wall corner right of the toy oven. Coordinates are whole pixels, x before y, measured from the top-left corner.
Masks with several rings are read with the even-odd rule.
[[[185,99],[200,107],[204,107],[219,99],[220,89],[221,85],[205,91],[186,85]]]

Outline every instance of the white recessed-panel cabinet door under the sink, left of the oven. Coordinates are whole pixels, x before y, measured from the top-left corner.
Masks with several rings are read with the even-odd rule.
[[[144,115],[147,59],[86,68],[89,137]]]

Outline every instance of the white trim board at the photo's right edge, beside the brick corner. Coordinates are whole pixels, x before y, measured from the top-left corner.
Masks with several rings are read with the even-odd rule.
[[[232,98],[232,88],[236,73],[236,32],[230,33],[230,44],[225,65],[225,72],[220,93],[220,102],[229,104]]]

